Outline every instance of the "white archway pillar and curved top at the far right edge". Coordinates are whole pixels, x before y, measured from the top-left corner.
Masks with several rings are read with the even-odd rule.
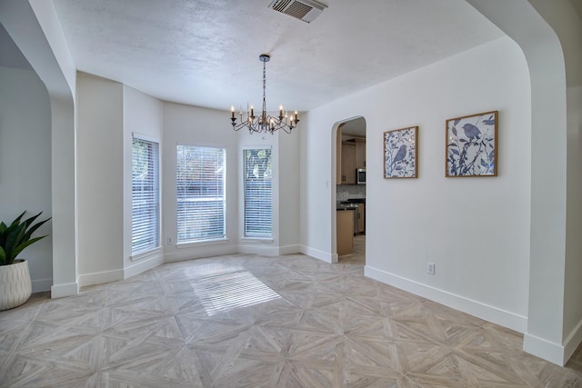
[[[574,151],[567,144],[568,136],[575,140],[571,135],[579,133],[580,108],[567,102],[567,95],[576,98],[575,93],[567,93],[567,79],[579,79],[582,75],[579,59],[576,60],[579,46],[572,45],[582,35],[580,19],[567,1],[552,5],[537,0],[467,2],[511,37],[527,59],[532,158],[529,303],[524,350],[564,365],[582,341],[579,303],[568,302],[577,299],[572,294],[579,296],[582,289],[573,286],[579,281],[568,277],[571,271],[567,271],[567,263],[578,270],[578,275],[582,268],[580,259],[574,257],[579,257],[580,246],[573,238],[569,241],[567,238],[567,227],[571,232],[582,218],[577,200],[579,184],[572,184],[567,178],[574,170],[575,174],[580,170],[575,163],[577,158],[567,154],[567,149]],[[565,64],[567,50],[577,51],[570,53],[569,67]],[[577,95],[579,98],[579,92]],[[552,157],[536,157],[543,154]],[[572,247],[569,254],[567,246]]]

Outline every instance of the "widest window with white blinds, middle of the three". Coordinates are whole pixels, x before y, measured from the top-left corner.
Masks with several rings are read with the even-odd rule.
[[[177,243],[226,237],[224,148],[176,149]]]

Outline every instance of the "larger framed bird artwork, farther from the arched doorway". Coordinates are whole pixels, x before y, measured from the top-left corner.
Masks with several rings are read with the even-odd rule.
[[[447,120],[445,176],[497,176],[497,111]]]

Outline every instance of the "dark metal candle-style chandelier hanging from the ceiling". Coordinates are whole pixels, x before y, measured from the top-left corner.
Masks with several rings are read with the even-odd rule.
[[[261,54],[258,59],[263,63],[263,112],[261,115],[255,115],[255,109],[251,105],[250,111],[248,109],[248,104],[246,105],[246,118],[243,119],[243,110],[240,111],[240,123],[236,123],[235,106],[231,106],[230,111],[232,116],[230,117],[231,124],[235,131],[239,131],[242,128],[248,129],[249,134],[253,133],[275,133],[275,131],[282,129],[287,134],[291,133],[291,130],[297,126],[299,123],[299,118],[297,116],[297,111],[295,114],[287,114],[283,111],[283,105],[279,105],[279,115],[271,116],[266,114],[266,63],[271,59],[271,55]]]

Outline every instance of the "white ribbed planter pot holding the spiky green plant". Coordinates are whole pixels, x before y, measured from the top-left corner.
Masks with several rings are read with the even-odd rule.
[[[27,261],[15,260],[11,265],[0,265],[0,311],[25,303],[32,292]]]

